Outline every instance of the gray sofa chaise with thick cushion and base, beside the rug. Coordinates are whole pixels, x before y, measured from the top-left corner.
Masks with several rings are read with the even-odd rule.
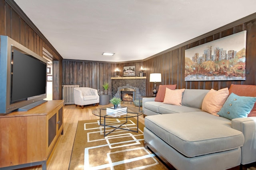
[[[244,135],[230,120],[200,111],[146,116],[144,141],[176,169],[222,170],[240,165]]]

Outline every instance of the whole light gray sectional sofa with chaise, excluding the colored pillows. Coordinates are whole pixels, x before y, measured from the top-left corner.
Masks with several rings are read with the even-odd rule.
[[[185,89],[182,106],[143,98],[144,145],[178,170],[224,170],[256,161],[256,117],[202,111],[209,90]]]

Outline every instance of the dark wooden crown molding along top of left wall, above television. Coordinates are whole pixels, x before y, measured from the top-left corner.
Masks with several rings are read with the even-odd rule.
[[[56,55],[58,55],[61,59],[62,56],[58,53],[58,51],[52,46],[52,44],[46,39],[46,37],[41,33],[41,31],[34,25],[34,23],[28,18],[28,16],[22,11],[22,9],[14,2],[14,0],[5,0],[5,2],[39,35],[39,37],[48,45]]]

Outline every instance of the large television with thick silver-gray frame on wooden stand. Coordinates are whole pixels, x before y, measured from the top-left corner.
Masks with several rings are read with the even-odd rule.
[[[1,35],[0,114],[26,111],[46,100],[47,60]]]

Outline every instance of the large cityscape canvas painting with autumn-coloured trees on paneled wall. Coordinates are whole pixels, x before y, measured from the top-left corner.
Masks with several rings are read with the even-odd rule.
[[[185,81],[245,80],[246,31],[185,50]]]

